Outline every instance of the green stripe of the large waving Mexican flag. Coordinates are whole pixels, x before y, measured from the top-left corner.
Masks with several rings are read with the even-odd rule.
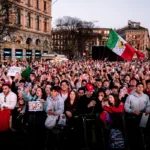
[[[109,33],[109,38],[106,42],[106,46],[112,50],[116,46],[118,39],[119,38],[118,38],[117,33],[111,29]]]

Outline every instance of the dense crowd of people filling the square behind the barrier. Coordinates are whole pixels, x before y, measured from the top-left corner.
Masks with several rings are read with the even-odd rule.
[[[8,62],[0,92],[0,135],[26,131],[29,149],[149,149],[149,61]]]

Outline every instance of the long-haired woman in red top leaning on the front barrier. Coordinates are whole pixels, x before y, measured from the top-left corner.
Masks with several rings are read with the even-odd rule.
[[[124,124],[122,114],[124,113],[124,104],[117,95],[110,94],[108,102],[103,105],[103,109],[108,112],[112,122],[109,135],[110,148],[125,148],[124,145]]]

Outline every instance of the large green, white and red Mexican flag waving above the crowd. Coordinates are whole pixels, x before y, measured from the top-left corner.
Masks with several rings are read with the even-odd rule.
[[[131,61],[136,52],[133,47],[131,47],[121,36],[119,36],[112,29],[110,30],[106,46],[115,54],[119,55],[127,61]]]

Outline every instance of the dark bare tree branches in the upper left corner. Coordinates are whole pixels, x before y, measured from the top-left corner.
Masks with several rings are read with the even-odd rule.
[[[16,30],[13,22],[14,14],[12,2],[0,0],[0,43],[5,42],[7,37],[10,38],[10,35]]]

